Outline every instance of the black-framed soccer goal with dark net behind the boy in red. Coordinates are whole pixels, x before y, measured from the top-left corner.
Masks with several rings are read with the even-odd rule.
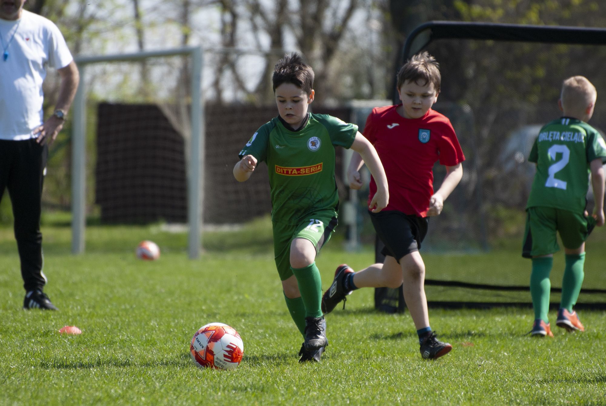
[[[530,304],[531,264],[521,258],[534,176],[528,153],[541,126],[560,116],[559,92],[570,76],[585,76],[596,86],[590,124],[606,130],[604,45],[606,30],[597,28],[438,21],[411,33],[402,63],[421,50],[436,57],[442,84],[434,108],[452,122],[466,158],[461,183],[442,214],[430,219],[422,244],[423,253],[435,254],[425,261],[430,304]],[[437,189],[445,170],[434,169]],[[587,210],[593,210],[591,188]],[[588,259],[591,251],[604,250],[599,231],[588,239]],[[555,257],[552,302],[559,301],[564,268],[563,253]],[[578,305],[606,307],[606,276],[587,264]],[[376,291],[378,308],[395,311],[401,301],[398,291]]]

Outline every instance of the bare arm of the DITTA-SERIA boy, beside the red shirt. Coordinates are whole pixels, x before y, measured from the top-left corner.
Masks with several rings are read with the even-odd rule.
[[[375,178],[377,193],[375,193],[375,196],[371,199],[368,208],[370,208],[373,213],[379,213],[379,211],[387,207],[387,203],[389,202],[387,176],[385,176],[385,170],[383,169],[383,164],[381,164],[381,159],[379,159],[379,155],[377,155],[377,151],[375,150],[375,147],[373,147],[373,144],[370,144],[370,141],[359,133],[359,131],[356,134],[356,139],[353,141],[353,144],[351,144],[351,149],[356,151],[359,154],[359,157],[364,160],[366,167],[370,170],[370,174]],[[356,157],[358,154],[354,154],[351,161],[354,161],[354,159],[357,161],[359,159]],[[357,164],[358,169],[361,167],[361,162],[362,161],[359,161]]]

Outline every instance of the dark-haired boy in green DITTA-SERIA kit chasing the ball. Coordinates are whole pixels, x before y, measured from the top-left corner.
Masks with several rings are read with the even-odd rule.
[[[315,96],[313,78],[313,70],[297,53],[278,61],[273,90],[279,115],[253,134],[233,168],[239,182],[250,178],[258,162],[269,168],[276,267],[288,311],[304,336],[299,362],[320,361],[328,345],[315,258],[337,225],[335,147],[358,152],[377,180],[373,212],[387,206],[389,198],[379,156],[358,126],[308,113]]]

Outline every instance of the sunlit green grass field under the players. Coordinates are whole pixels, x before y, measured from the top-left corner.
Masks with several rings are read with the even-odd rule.
[[[582,312],[585,333],[554,326],[554,339],[532,339],[530,309],[431,309],[432,327],[453,351],[424,361],[409,314],[378,313],[373,291],[361,290],[327,316],[322,362],[299,364],[302,338],[284,304],[266,219],[205,233],[197,261],[187,259],[185,234],[159,225],[88,227],[87,253],[72,256],[64,223],[54,218],[43,228],[46,291],[58,312],[20,310],[16,245],[12,230],[0,228],[0,405],[606,404],[604,311]],[[347,253],[336,237],[318,257],[323,287],[336,265],[358,269],[373,259],[371,247]],[[135,259],[142,239],[158,242],[158,261]],[[604,240],[596,241],[588,275],[604,273]],[[527,283],[530,266],[514,250],[425,260],[428,278],[494,272],[511,284]],[[428,290],[429,299],[447,295],[474,294]],[[216,321],[244,340],[235,371],[191,362],[191,336]],[[82,334],[60,336],[64,325]]]

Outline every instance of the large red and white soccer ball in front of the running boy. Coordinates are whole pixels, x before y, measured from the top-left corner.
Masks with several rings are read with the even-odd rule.
[[[193,334],[190,353],[198,367],[233,370],[242,361],[244,343],[234,328],[223,323],[209,323]]]

